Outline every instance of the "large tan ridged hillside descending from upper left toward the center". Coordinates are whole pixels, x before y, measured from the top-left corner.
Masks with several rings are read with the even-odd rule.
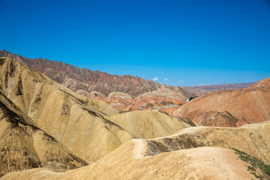
[[[107,120],[117,114],[105,102],[67,89],[11,58],[0,58],[0,86],[36,125],[88,162],[135,138]]]

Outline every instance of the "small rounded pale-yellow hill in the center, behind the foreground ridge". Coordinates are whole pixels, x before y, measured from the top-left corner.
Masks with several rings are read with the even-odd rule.
[[[195,126],[191,120],[174,117],[159,110],[136,110],[112,115],[109,119],[139,138],[166,136],[182,128]]]

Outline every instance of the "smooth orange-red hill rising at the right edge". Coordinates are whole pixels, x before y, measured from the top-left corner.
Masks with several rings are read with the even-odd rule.
[[[256,123],[270,120],[270,77],[262,79],[250,87],[236,90],[220,90],[200,97],[196,97],[182,105],[173,112],[174,115],[188,117],[195,122],[202,115],[209,111],[227,111],[238,119],[245,119],[236,122],[236,126],[244,123]],[[206,115],[207,116],[207,115]],[[218,124],[219,122],[215,122]],[[204,125],[210,125],[204,123]]]

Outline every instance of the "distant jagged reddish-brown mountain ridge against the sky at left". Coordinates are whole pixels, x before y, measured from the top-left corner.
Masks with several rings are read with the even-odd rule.
[[[20,55],[12,54],[5,50],[0,51],[0,57],[11,57],[20,60],[27,66],[47,75],[52,80],[68,87],[76,92],[98,91],[105,96],[110,92],[124,92],[135,97],[144,92],[167,88],[180,93],[185,98],[193,96],[192,93],[178,86],[159,84],[152,80],[146,80],[131,75],[112,75],[98,70],[92,71],[86,68],[78,68],[60,61],[50,61],[44,58],[29,59]]]

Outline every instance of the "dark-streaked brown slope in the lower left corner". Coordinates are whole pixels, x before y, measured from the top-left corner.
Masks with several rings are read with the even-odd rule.
[[[88,163],[35,126],[0,89],[0,177],[36,167],[63,171]]]

